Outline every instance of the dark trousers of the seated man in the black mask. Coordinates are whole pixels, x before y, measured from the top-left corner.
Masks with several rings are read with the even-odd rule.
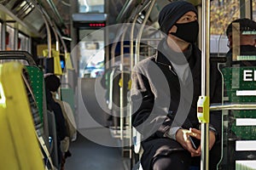
[[[200,167],[201,156],[191,157],[189,151],[175,140],[153,139],[143,143],[141,163],[143,170],[189,170],[189,167]],[[216,170],[221,156],[220,142],[209,151],[209,169]]]

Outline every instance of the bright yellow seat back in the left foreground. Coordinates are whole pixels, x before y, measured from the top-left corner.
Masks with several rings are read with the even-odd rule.
[[[0,169],[43,170],[22,69],[16,62],[0,65]]]

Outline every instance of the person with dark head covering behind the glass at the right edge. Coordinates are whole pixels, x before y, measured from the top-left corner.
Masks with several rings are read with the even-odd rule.
[[[239,56],[242,58],[256,55],[256,22],[246,18],[234,20],[227,27],[226,35],[229,39],[228,47],[230,48],[229,52],[226,54],[228,66],[231,66],[231,60],[233,60],[233,65],[237,63],[241,66],[255,65],[255,61],[248,62],[238,60]]]

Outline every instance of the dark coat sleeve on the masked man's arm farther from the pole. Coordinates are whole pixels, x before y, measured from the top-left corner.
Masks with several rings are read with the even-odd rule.
[[[157,103],[155,87],[153,81],[146,75],[137,66],[131,74],[132,126],[136,127],[144,138],[163,137],[172,123],[165,107],[155,105]]]

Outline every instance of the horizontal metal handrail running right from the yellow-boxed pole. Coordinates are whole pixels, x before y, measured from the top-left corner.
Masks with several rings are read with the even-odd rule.
[[[227,111],[227,110],[256,110],[256,103],[250,104],[212,104],[210,111]]]

